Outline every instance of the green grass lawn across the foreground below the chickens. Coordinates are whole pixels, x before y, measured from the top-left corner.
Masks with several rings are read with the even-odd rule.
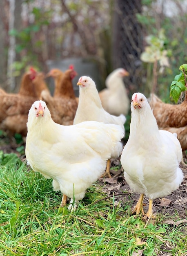
[[[16,155],[0,155],[0,256],[187,255],[187,225],[146,225],[95,183],[76,212],[60,208],[52,181]],[[177,218],[177,216],[176,216]],[[139,250],[139,251],[138,251]],[[139,254],[138,254],[139,252]],[[142,253],[142,254],[140,254]]]

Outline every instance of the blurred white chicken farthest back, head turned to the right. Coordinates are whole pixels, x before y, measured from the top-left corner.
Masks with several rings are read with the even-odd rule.
[[[120,67],[111,72],[105,81],[107,88],[99,92],[102,107],[111,115],[127,115],[130,101],[123,81],[124,76],[129,76],[129,72]]]

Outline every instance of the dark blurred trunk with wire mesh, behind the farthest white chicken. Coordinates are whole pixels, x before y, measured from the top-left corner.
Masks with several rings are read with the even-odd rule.
[[[113,21],[113,65],[125,67],[130,73],[125,81],[129,91],[137,91],[142,85],[140,54],[143,50],[142,27],[136,18],[141,13],[141,1],[117,0]]]

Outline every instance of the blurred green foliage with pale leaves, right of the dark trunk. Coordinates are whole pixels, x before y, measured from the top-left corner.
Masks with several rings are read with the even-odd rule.
[[[151,50],[147,60],[142,58],[147,89],[156,87],[155,93],[169,102],[171,82],[180,73],[180,65],[187,62],[187,1],[142,0],[142,13],[137,18],[145,31],[145,42],[150,45],[150,49],[144,48],[144,54]],[[151,58],[153,52],[155,61]]]

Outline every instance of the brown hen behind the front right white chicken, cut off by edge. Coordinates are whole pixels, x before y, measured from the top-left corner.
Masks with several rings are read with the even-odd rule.
[[[182,150],[187,150],[187,101],[181,104],[168,104],[151,94],[149,101],[160,130],[176,132]]]

